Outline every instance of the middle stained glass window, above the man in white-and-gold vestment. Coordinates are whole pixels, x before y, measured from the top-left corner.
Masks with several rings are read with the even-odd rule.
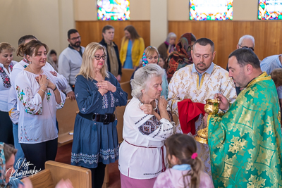
[[[190,0],[190,20],[233,20],[233,0]]]

